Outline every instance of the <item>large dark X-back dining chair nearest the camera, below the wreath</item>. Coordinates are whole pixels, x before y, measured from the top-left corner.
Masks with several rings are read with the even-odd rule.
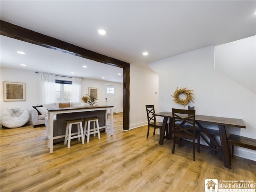
[[[176,138],[185,138],[193,141],[193,160],[195,157],[195,140],[197,139],[197,152],[200,152],[200,130],[195,127],[196,110],[172,109],[174,139],[172,153],[175,150]]]

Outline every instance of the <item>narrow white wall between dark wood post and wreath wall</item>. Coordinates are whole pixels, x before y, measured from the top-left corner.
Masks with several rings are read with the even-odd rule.
[[[148,124],[145,105],[154,104],[158,112],[158,96],[158,75],[131,64],[130,129]]]

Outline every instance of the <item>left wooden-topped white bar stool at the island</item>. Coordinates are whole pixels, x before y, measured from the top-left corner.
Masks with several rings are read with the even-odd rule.
[[[82,138],[82,144],[84,144],[84,132],[83,132],[83,125],[82,122],[83,119],[74,119],[74,120],[66,120],[67,123],[66,126],[66,134],[65,134],[65,140],[64,145],[67,144],[68,141],[68,149],[70,148],[70,141],[71,139],[78,138],[78,141],[80,141],[80,137]],[[71,133],[72,125],[77,124],[77,132]],[[72,136],[74,135],[74,136]]]

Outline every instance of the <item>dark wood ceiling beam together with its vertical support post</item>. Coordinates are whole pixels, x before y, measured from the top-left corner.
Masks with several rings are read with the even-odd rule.
[[[104,64],[123,68],[123,128],[129,130],[129,114],[130,114],[130,64],[78,47],[76,45],[58,40],[56,38],[46,36],[44,34],[11,24],[0,20],[0,34],[22,40],[24,42],[36,44],[46,48],[59,50],[68,54],[79,56],[82,58],[94,60]]]

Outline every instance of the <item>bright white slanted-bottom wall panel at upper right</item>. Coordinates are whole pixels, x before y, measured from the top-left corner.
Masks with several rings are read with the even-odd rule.
[[[256,36],[215,47],[215,70],[256,92]]]

